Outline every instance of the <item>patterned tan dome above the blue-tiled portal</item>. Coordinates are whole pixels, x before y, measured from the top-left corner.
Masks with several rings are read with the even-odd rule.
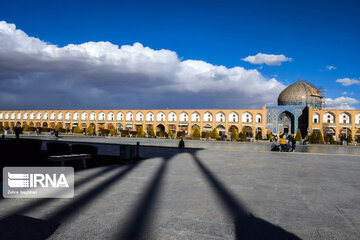
[[[309,83],[298,81],[285,88],[279,95],[278,105],[301,105],[322,108],[323,96]]]

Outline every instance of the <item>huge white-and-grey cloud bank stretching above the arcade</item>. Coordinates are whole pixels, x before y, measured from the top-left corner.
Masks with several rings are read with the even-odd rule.
[[[0,108],[261,107],[284,88],[258,70],[182,61],[141,43],[58,47],[0,22]]]

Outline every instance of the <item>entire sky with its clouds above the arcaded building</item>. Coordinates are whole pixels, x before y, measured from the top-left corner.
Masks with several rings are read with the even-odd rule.
[[[359,1],[1,1],[0,109],[360,109]]]

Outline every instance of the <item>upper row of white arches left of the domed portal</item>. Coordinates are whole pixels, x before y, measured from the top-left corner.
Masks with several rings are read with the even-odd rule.
[[[216,122],[226,122],[226,119],[228,119],[228,122],[230,123],[237,123],[241,120],[243,123],[252,123],[254,121],[253,118],[255,118],[256,123],[262,123],[262,114],[257,113],[255,116],[253,116],[250,112],[245,112],[241,116],[235,111],[229,113],[226,115],[224,112],[217,112],[215,116],[213,113],[207,111],[204,114],[200,114],[199,112],[193,112],[191,115],[189,115],[187,112],[181,112],[179,115],[175,112],[170,112],[168,114],[165,114],[164,112],[147,112],[144,114],[143,112],[139,111],[137,113],[133,113],[132,111],[128,111],[126,113],[123,112],[117,112],[116,114],[112,111],[110,112],[25,112],[21,114],[21,112],[15,113],[0,113],[0,119],[5,120],[57,120],[57,121],[146,121],[146,122],[200,122],[201,118],[203,122],[213,122],[214,120]]]

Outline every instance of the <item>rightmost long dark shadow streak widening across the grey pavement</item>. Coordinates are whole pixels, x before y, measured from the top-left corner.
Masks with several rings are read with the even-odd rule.
[[[236,239],[300,239],[293,233],[257,218],[246,210],[226,186],[193,154],[196,165],[208,180],[216,196],[224,203],[225,210],[234,220]]]

